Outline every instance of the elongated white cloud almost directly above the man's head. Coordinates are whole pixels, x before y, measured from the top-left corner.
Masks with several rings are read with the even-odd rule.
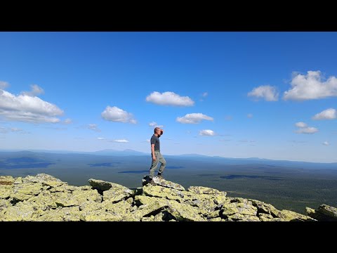
[[[179,96],[178,94],[166,91],[159,93],[157,91],[152,92],[146,97],[147,102],[155,103],[157,105],[175,105],[175,106],[192,106],[194,101],[188,96]]]

